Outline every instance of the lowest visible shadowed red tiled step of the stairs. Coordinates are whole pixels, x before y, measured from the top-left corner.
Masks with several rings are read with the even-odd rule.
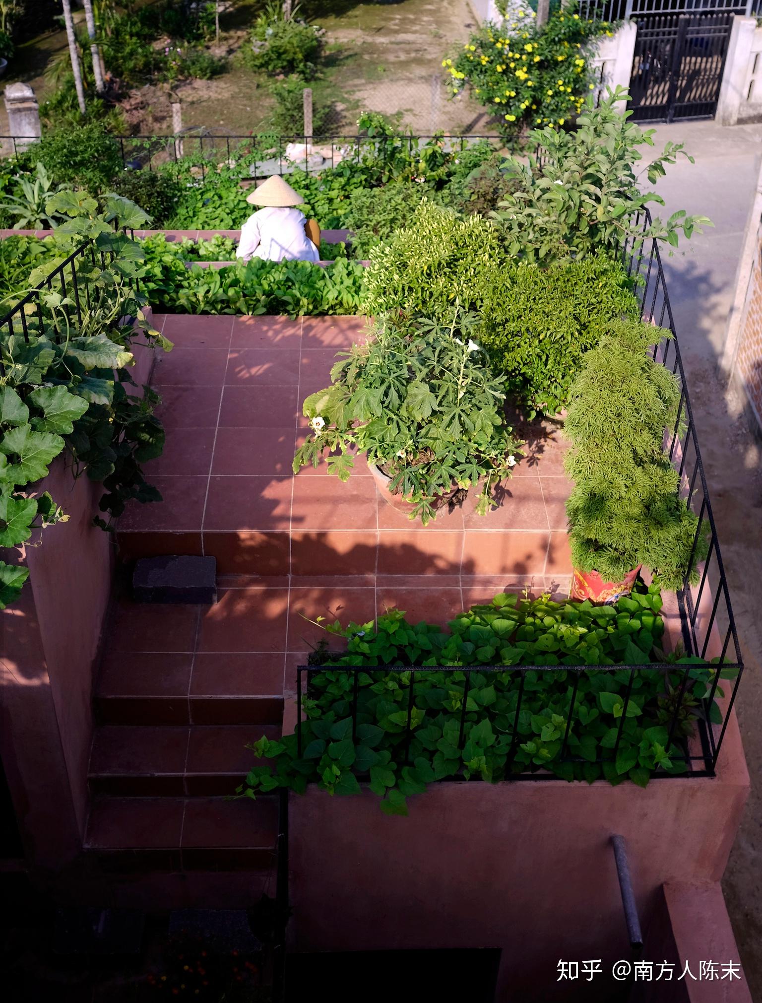
[[[104,870],[239,871],[274,864],[274,796],[94,797],[85,851]]]

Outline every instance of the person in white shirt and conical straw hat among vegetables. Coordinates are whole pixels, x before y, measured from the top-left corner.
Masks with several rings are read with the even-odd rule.
[[[283,178],[273,175],[247,196],[248,203],[262,206],[241,228],[237,258],[264,258],[265,261],[319,261],[320,230],[314,220],[309,223],[295,206],[304,202],[302,196]],[[310,236],[308,236],[308,233]]]

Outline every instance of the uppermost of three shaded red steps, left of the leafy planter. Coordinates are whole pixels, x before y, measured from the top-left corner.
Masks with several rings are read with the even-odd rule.
[[[280,724],[283,676],[282,654],[109,651],[95,711],[103,724]]]

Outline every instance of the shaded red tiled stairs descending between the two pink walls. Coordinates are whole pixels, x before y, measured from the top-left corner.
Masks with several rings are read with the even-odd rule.
[[[95,693],[86,856],[110,873],[272,875],[275,797],[231,801],[280,735],[282,653],[196,651],[209,608],[117,604]]]

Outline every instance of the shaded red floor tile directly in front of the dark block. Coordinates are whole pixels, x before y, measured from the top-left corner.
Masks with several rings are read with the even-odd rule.
[[[109,652],[193,651],[199,606],[146,605],[120,602],[109,625]],[[138,661],[142,661],[139,659]]]

